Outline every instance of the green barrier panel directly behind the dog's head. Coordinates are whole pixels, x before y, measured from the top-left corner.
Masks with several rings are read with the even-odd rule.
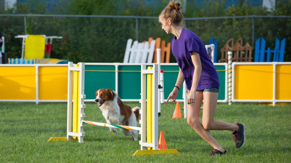
[[[113,70],[113,72],[99,72],[88,70]],[[95,91],[110,88],[115,91],[115,66],[85,66],[85,94],[86,99],[95,99]]]

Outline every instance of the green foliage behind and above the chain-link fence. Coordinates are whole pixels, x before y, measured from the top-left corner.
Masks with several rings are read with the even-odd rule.
[[[46,11],[48,4],[44,0],[30,0],[29,3],[17,3],[17,9],[0,11],[0,14],[79,14],[79,15],[131,15],[159,16],[167,5],[167,0],[156,2],[157,6],[147,1],[136,0],[62,0],[54,13]],[[226,0],[205,1],[204,6],[197,6],[196,1],[187,1],[185,18],[244,16],[244,15],[291,15],[291,1],[279,0],[276,10],[246,5],[241,0],[239,5],[225,7]],[[34,3],[31,7],[29,4]],[[182,6],[182,10],[183,10]],[[275,37],[286,40],[285,61],[291,61],[291,20],[290,18],[255,18],[255,40],[264,37],[267,46],[274,48]],[[5,36],[6,51],[9,57],[20,57],[21,39],[14,36],[25,34],[23,17],[0,17],[0,30]],[[138,19],[138,41],[149,37],[161,37],[170,42],[172,34],[166,34],[157,19]],[[72,17],[26,17],[26,34],[45,34],[62,36],[61,40],[53,40],[53,58],[68,59],[73,62],[122,62],[126,41],[135,40],[135,18],[72,18]],[[242,37],[243,43],[251,46],[253,19],[208,19],[187,20],[186,27],[195,32],[205,44],[214,37],[218,40],[218,56],[220,49],[229,38],[235,40]],[[254,51],[253,51],[254,54]],[[176,62],[171,55],[170,62]]]

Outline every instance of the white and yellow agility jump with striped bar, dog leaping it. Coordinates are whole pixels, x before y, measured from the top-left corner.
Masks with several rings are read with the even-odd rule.
[[[146,77],[147,75],[147,77]],[[158,64],[146,69],[141,65],[141,127],[122,126],[84,120],[85,95],[85,63],[68,64],[68,114],[67,137],[52,137],[48,141],[78,139],[83,142],[85,136],[84,125],[114,127],[139,130],[141,134],[141,150],[133,155],[151,155],[165,153],[179,153],[176,149],[158,149]],[[147,85],[147,88],[146,88]],[[147,89],[147,92],[146,92]],[[73,101],[72,101],[73,100]]]

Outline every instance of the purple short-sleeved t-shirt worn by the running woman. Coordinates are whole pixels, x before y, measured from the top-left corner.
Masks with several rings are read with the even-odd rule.
[[[192,51],[199,53],[202,65],[200,80],[196,90],[219,87],[217,71],[207,55],[204,43],[192,31],[183,28],[179,39],[174,36],[172,40],[172,53],[185,77],[187,89],[191,89],[195,69],[191,59]]]

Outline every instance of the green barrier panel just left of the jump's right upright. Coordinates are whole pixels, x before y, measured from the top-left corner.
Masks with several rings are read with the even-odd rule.
[[[141,66],[118,66],[118,95],[121,99],[140,99],[141,91]]]

